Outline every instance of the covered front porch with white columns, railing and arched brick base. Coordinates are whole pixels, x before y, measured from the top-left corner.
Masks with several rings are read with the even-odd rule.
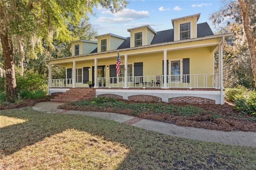
[[[90,88],[88,81],[92,81],[96,96],[224,104],[224,36],[202,40],[52,59],[49,61],[49,94]],[[219,51],[217,69],[216,51]],[[116,74],[118,53],[122,59],[120,75]],[[65,78],[52,79],[53,65],[66,67]]]

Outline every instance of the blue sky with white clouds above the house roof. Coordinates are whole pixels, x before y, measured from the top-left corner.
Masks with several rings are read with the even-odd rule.
[[[129,0],[126,8],[112,14],[109,10],[98,6],[93,8],[96,16],[89,16],[90,23],[98,35],[116,34],[129,37],[129,28],[149,25],[156,32],[172,29],[171,20],[183,16],[201,13],[198,23],[210,22],[209,15],[220,9],[220,0]]]

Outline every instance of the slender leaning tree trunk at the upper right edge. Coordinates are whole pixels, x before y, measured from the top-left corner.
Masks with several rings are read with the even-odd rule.
[[[250,53],[251,63],[252,63],[252,73],[254,77],[254,85],[256,87],[256,51],[254,48],[254,40],[252,38],[252,33],[250,31],[249,18],[248,18],[248,10],[250,5],[250,0],[247,0],[246,4],[244,0],[238,0],[240,5],[240,11],[243,19],[244,33],[246,36],[248,49]]]

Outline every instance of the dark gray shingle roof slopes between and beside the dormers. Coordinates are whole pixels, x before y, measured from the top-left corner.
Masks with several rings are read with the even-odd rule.
[[[197,24],[197,38],[202,38],[206,36],[214,36],[214,33],[212,32],[210,26],[207,24],[207,22]],[[151,44],[157,44],[157,43],[165,43],[165,42],[173,42],[174,41],[174,29],[170,30],[163,30],[157,32],[157,34],[154,36]],[[125,40],[117,49],[125,49],[130,48],[130,37],[127,37],[127,40]],[[91,53],[96,53],[97,48],[94,49]]]

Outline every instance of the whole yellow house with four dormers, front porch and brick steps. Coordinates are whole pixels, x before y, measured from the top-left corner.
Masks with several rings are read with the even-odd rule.
[[[222,45],[233,34],[214,35],[206,22],[197,24],[199,17],[172,19],[170,30],[156,32],[147,25],[128,29],[128,38],[104,34],[95,37],[98,42],[72,42],[71,57],[47,60],[49,94],[58,94],[53,101],[62,102],[106,96],[224,104]],[[53,65],[66,67],[66,77],[52,79]]]

